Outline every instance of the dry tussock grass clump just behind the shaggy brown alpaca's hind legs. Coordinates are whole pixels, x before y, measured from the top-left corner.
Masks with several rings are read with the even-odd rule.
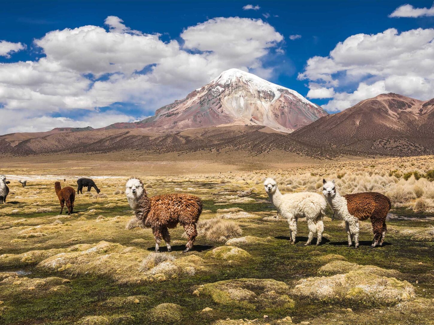
[[[197,233],[213,242],[226,242],[230,238],[239,237],[243,231],[233,221],[214,218],[199,221]]]

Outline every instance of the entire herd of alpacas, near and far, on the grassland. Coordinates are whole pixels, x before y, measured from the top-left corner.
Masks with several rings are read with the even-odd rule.
[[[5,175],[0,175],[0,204],[6,203],[9,183]],[[21,180],[20,183],[23,184]],[[97,193],[101,192],[92,179],[78,179],[77,185],[77,194],[82,193],[83,187],[87,187],[88,192],[92,187]],[[62,188],[60,182],[55,182],[54,188],[59,198],[60,214],[64,205],[68,209],[68,214],[73,213],[76,191],[70,186]],[[264,188],[278,214],[288,221],[292,243],[296,242],[298,218],[307,220],[309,236],[305,245],[311,244],[314,234],[317,236],[316,244],[321,243],[324,231],[323,217],[325,208],[329,205],[333,215],[337,214],[345,221],[349,247],[353,243],[355,248],[359,247],[359,221],[369,218],[374,233],[371,248],[383,245],[387,231],[386,216],[391,209],[391,202],[385,195],[364,192],[342,196],[336,190],[335,181],[327,182],[325,179],[323,179],[322,195],[313,192],[282,194],[272,178],[265,180]],[[159,251],[161,239],[165,241],[168,251],[171,251],[168,229],[175,228],[178,224],[184,227],[188,239],[184,253],[192,249],[197,236],[196,224],[203,208],[200,198],[190,194],[163,194],[148,197],[143,183],[135,177],[126,182],[125,195],[137,220],[145,227],[151,228],[155,237],[156,252]]]

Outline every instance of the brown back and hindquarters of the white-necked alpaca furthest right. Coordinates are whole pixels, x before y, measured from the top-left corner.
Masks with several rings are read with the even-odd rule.
[[[363,192],[344,195],[348,212],[358,220],[371,218],[374,243],[383,244],[386,235],[386,216],[391,209],[390,199],[377,192]]]

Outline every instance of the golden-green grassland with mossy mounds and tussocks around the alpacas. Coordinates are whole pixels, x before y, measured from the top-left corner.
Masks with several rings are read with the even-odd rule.
[[[101,193],[76,195],[68,216],[59,215],[54,182],[76,188],[78,176],[50,168],[45,174],[53,175],[30,165],[0,170],[11,181],[0,205],[0,324],[434,324],[433,156],[136,172],[149,195],[202,198],[199,234],[187,254],[182,227],[171,230],[171,253],[154,253],[151,230],[135,222],[125,198],[130,171],[99,170]],[[342,221],[330,211],[322,245],[304,246],[303,219],[291,244],[286,220],[275,218],[263,190],[269,176],[281,192],[320,192],[324,177],[342,194],[388,195],[385,246],[368,248],[367,221],[360,248],[348,248]]]

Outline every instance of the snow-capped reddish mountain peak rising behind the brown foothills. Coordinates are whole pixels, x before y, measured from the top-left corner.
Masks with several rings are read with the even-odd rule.
[[[159,108],[152,117],[129,125],[116,123],[106,129],[140,127],[163,131],[263,125],[289,133],[325,115],[325,110],[296,91],[230,69],[184,99]]]

